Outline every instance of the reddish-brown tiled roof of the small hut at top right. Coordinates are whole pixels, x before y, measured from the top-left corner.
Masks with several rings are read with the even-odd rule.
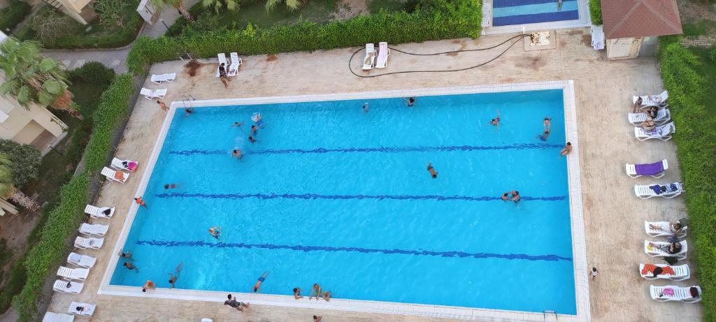
[[[676,0],[601,0],[606,39],[682,34]]]

